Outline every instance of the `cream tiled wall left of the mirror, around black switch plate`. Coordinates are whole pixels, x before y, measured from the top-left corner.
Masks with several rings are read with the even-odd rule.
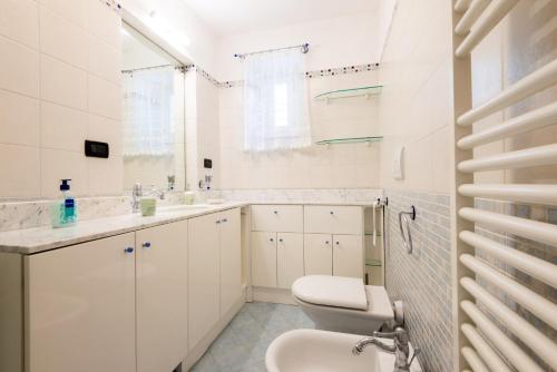
[[[120,194],[120,17],[99,0],[0,2],[0,197]],[[86,158],[84,140],[110,144]]]

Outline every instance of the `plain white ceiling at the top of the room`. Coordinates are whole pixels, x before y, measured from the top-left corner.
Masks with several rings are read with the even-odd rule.
[[[216,36],[373,11],[381,0],[182,0]]]

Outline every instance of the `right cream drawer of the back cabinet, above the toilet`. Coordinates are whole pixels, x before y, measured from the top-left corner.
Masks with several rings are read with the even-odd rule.
[[[361,235],[362,214],[361,207],[353,206],[305,206],[304,232]]]

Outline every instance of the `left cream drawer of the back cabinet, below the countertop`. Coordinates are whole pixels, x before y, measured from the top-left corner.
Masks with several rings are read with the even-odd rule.
[[[253,205],[252,231],[302,233],[303,206],[301,205]]]

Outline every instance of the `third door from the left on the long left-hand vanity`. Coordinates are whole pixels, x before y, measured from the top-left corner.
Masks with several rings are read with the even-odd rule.
[[[219,319],[219,215],[188,221],[188,347],[192,350]]]

